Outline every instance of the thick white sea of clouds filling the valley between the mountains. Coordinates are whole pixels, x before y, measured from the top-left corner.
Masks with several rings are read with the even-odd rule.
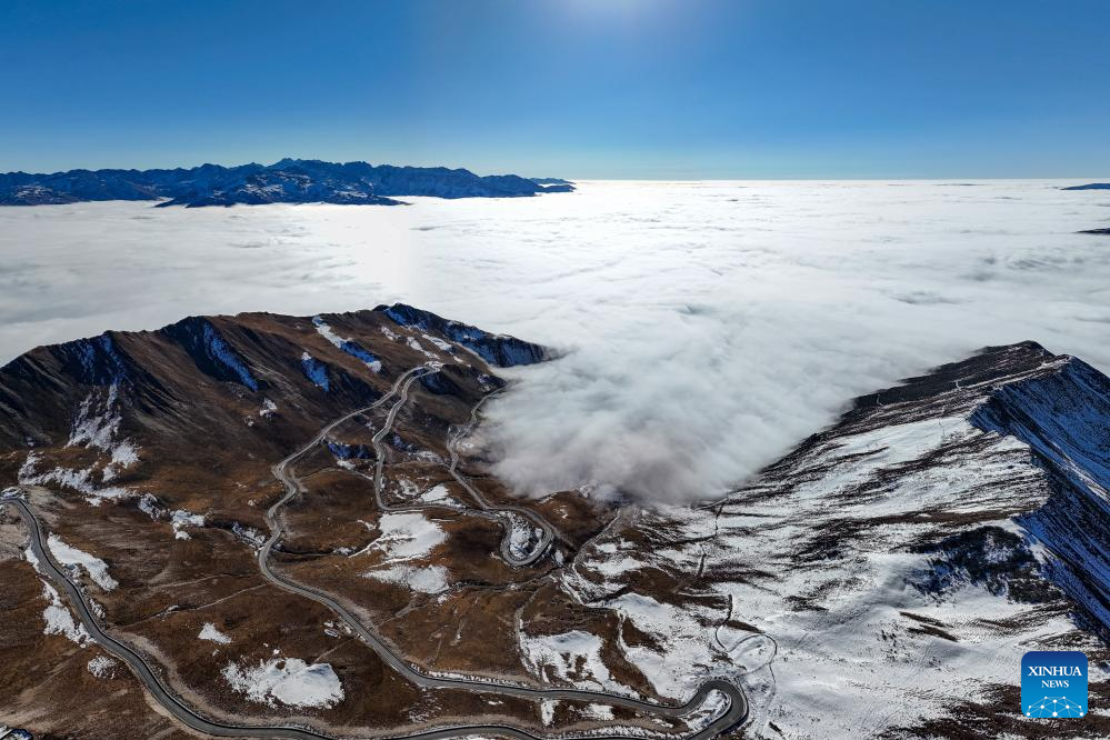
[[[401,300],[556,347],[489,407],[526,494],[719,493],[854,396],[1033,339],[1110,370],[1110,192],[583,183],[398,208],[0,209],[0,361],[183,316]]]

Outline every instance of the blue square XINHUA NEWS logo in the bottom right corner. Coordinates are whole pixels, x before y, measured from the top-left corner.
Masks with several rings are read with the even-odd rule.
[[[1031,650],[1021,658],[1021,713],[1087,716],[1087,656],[1078,650]]]

